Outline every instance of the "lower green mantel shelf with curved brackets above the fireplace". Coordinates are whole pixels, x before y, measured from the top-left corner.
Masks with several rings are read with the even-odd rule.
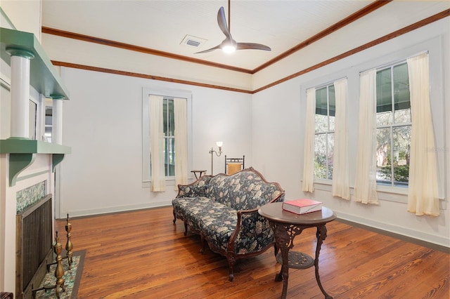
[[[52,171],[63,161],[65,154],[72,152],[70,147],[39,140],[9,138],[0,140],[0,154],[9,154],[9,185],[14,186],[21,171],[27,168],[36,154],[52,155]]]

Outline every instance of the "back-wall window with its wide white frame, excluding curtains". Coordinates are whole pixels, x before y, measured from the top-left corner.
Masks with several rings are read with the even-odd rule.
[[[189,91],[174,90],[154,90],[143,88],[142,95],[142,181],[143,187],[150,187],[151,162],[150,162],[150,95],[162,96],[162,139],[164,140],[164,175],[167,185],[175,183],[176,165],[176,138],[175,122],[176,109],[174,100],[180,98],[186,100],[186,121],[187,121],[187,152],[188,169],[191,169],[192,161],[192,95]],[[162,171],[161,171],[162,173]]]

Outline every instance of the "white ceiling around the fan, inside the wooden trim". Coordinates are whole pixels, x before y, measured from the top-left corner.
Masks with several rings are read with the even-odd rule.
[[[233,67],[255,69],[373,1],[231,1],[231,34],[238,42],[271,47],[231,55],[212,48],[225,38],[217,11],[228,1],[42,1],[42,26],[141,46]],[[207,41],[201,48],[181,43],[186,35]]]

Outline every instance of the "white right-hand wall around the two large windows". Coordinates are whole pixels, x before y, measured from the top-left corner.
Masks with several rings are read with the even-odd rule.
[[[323,201],[338,217],[406,236],[450,246],[449,160],[449,28],[450,18],[434,22],[387,41],[364,52],[291,79],[253,96],[253,161],[270,180],[281,183],[286,199],[312,197]],[[416,216],[406,211],[406,195],[379,192],[380,205],[371,206],[333,198],[330,185],[315,184],[314,194],[302,192],[304,120],[306,90],[347,77],[349,90],[350,182],[353,185],[356,164],[359,72],[408,58],[420,51],[430,53],[430,98],[439,159],[439,196],[441,215]],[[413,112],[414,113],[414,112]],[[398,202],[399,201],[399,202]]]

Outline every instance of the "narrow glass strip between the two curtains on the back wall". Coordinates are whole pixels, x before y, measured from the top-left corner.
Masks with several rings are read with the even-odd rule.
[[[164,168],[165,176],[175,175],[175,117],[174,99],[164,98],[162,100],[162,126],[164,127]]]

